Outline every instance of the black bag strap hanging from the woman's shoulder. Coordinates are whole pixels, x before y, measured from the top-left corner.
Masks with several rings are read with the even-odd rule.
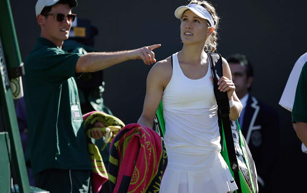
[[[235,145],[233,142],[230,119],[229,119],[230,108],[229,108],[228,96],[227,92],[221,92],[218,89],[217,85],[217,81],[220,79],[220,77],[223,76],[222,56],[218,53],[209,53],[208,57],[210,59],[211,72],[213,76],[214,95],[216,97],[216,103],[218,106],[219,126],[220,128],[222,128],[221,124],[223,123],[230,167],[231,170],[234,172],[235,183],[238,186],[237,193],[241,193],[242,190],[239,178],[239,165],[235,153]]]

